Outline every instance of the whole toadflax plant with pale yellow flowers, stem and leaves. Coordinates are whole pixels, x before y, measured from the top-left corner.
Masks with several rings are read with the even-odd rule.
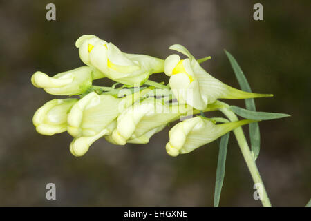
[[[128,54],[94,35],[79,37],[75,46],[86,66],[53,77],[40,71],[32,75],[32,84],[51,95],[79,95],[79,99],[53,99],[41,106],[33,117],[38,133],[54,135],[68,131],[73,137],[70,152],[81,157],[101,137],[116,145],[147,144],[152,135],[181,119],[169,131],[166,145],[167,153],[173,157],[220,138],[214,195],[214,206],[218,206],[229,133],[233,131],[254,183],[261,186],[258,193],[263,206],[271,206],[256,166],[260,146],[258,122],[289,115],[256,111],[254,98],[272,95],[252,93],[229,52],[225,51],[242,90],[224,84],[200,66],[210,57],[196,59],[178,44],[170,49],[185,55],[185,59],[176,54],[164,60]],[[169,76],[169,84],[149,80],[153,73]],[[111,87],[93,85],[93,80],[104,77],[116,83]],[[246,109],[219,99],[245,99]],[[208,111],[220,111],[226,118],[207,118],[204,113]],[[245,119],[238,120],[237,115]],[[249,124],[251,149],[241,128],[245,124]]]

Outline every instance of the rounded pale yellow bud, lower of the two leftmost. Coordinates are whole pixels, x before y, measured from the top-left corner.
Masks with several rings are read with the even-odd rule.
[[[67,116],[77,99],[53,99],[41,106],[32,118],[38,133],[54,135],[67,130]]]

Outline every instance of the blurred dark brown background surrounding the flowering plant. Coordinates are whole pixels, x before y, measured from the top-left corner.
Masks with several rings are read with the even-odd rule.
[[[47,3],[55,3],[56,21],[46,20]],[[254,21],[254,3],[263,4],[263,21]],[[252,90],[274,94],[256,99],[258,111],[292,115],[260,123],[257,164],[274,206],[305,206],[311,197],[310,8],[310,1],[1,1],[0,206],[213,205],[217,142],[169,157],[167,128],[147,145],[98,140],[76,158],[67,133],[35,131],[32,115],[55,96],[32,86],[32,73],[82,66],[75,40],[85,34],[163,59],[171,44],[182,44],[197,58],[211,55],[202,66],[238,88],[226,48]],[[167,81],[157,76],[152,79]],[[46,200],[49,182],[57,186],[55,201]],[[261,206],[253,193],[232,135],[220,206]]]

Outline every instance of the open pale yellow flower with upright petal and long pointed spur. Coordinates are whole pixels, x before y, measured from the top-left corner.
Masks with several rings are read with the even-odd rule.
[[[207,104],[214,103],[216,99],[271,96],[247,93],[223,84],[209,75],[184,46],[174,44],[169,49],[176,50],[188,57],[180,59],[179,55],[170,55],[164,62],[164,73],[170,76],[169,85],[179,102],[186,102],[198,110],[203,110]]]

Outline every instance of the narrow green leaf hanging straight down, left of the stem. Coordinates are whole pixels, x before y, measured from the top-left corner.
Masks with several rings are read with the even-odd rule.
[[[223,179],[225,178],[225,164],[227,157],[227,146],[229,141],[229,133],[226,133],[221,137],[219,144],[218,163],[216,170],[216,184],[215,184],[215,195],[214,195],[214,207],[218,207],[220,200],[220,193],[223,187]]]

